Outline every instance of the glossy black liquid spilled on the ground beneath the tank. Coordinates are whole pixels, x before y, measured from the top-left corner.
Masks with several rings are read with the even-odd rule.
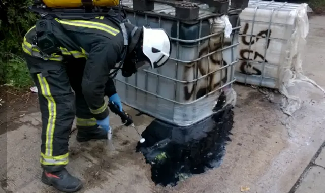
[[[220,110],[224,96],[214,108]],[[146,139],[138,143],[146,163],[151,165],[151,178],[155,184],[175,186],[179,180],[201,174],[221,165],[225,146],[231,141],[233,127],[232,106],[194,125],[180,127],[154,120],[142,133]]]

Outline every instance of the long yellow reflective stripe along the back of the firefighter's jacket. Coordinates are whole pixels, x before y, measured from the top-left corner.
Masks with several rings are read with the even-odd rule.
[[[113,36],[116,36],[120,31],[104,23],[94,22],[94,21],[85,21],[85,20],[60,20],[55,19],[57,22],[66,25],[72,25],[76,27],[85,27],[105,31]]]

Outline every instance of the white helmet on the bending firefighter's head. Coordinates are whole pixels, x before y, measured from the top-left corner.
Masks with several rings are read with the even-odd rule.
[[[163,66],[172,51],[171,40],[164,29],[151,29],[143,26],[143,54],[148,58],[136,65],[137,70]],[[149,62],[150,61],[150,62]]]

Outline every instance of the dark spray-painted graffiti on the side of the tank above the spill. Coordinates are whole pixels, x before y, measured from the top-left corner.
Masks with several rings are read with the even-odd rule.
[[[184,85],[183,91],[186,101],[193,101],[203,97],[221,85],[221,81],[223,84],[230,81],[228,68],[219,69],[231,62],[224,60],[221,51],[224,46],[231,45],[231,42],[224,38],[223,30],[212,28],[211,32],[216,33],[216,35],[206,40],[199,47],[198,58],[201,59],[184,65],[183,80],[196,80]]]

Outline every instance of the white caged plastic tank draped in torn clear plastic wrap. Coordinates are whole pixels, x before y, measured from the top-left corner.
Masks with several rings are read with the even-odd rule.
[[[290,95],[288,87],[307,81],[320,88],[302,71],[307,8],[307,4],[254,0],[240,14],[240,61],[235,77],[238,82],[279,90],[281,109],[288,115],[300,107],[300,99]],[[272,98],[272,93],[268,95]]]

